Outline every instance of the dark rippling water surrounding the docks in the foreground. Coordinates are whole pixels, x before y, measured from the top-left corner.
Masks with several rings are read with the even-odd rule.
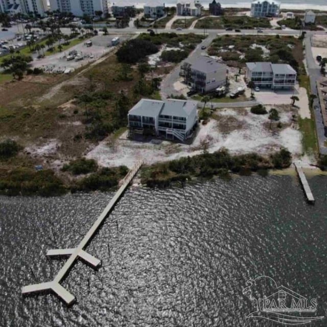
[[[78,262],[63,282],[72,308],[20,289],[56,275],[46,250],[76,246],[112,193],[0,197],[0,326],[276,326],[246,319],[242,289],[264,274],[327,316],[325,181],[309,180],[314,206],[290,176],[129,189],[87,248],[103,267]]]

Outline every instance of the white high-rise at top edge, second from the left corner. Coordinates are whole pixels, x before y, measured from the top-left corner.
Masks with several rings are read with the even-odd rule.
[[[103,16],[108,13],[107,0],[50,0],[50,8],[52,11],[71,12],[77,17],[94,17],[100,11]]]

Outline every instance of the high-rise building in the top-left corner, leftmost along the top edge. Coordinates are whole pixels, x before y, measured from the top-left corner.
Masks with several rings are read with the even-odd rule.
[[[11,15],[32,13],[43,17],[47,10],[46,0],[0,0],[0,12],[7,12]]]

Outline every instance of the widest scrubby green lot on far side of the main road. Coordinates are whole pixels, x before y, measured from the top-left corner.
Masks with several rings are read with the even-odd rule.
[[[207,17],[199,20],[195,25],[197,29],[253,29],[255,27],[269,28],[270,22],[267,18],[254,18],[248,16],[220,16]]]

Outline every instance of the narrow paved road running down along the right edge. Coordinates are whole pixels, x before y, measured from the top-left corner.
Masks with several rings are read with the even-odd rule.
[[[316,64],[316,61],[312,55],[311,51],[311,36],[306,36],[305,38],[306,45],[306,60],[308,67],[308,75],[310,77],[310,86],[312,94],[318,96],[316,81],[322,77],[320,74],[320,67]],[[318,99],[315,99],[313,102],[314,109],[314,119],[316,124],[316,131],[318,136],[318,145],[319,151],[321,154],[327,154],[327,147],[324,146],[326,137],[324,135],[324,125],[322,121],[321,108],[319,105]]]

